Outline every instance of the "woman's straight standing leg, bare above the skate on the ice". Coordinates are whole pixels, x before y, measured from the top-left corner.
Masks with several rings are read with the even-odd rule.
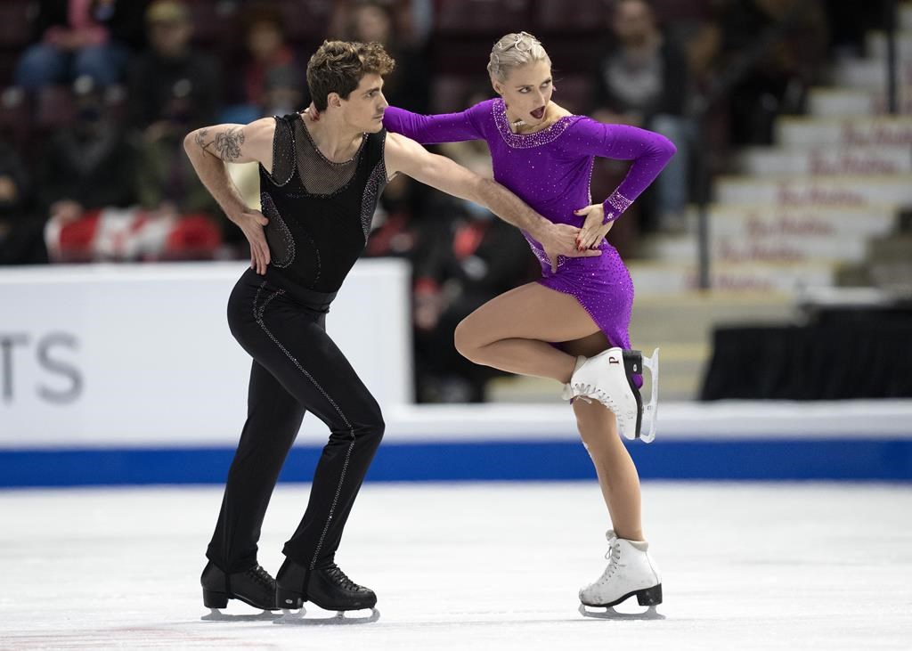
[[[602,332],[562,345],[570,355],[587,357],[594,356],[609,346]],[[586,400],[576,399],[573,410],[579,435],[596,466],[598,485],[602,489],[617,537],[633,541],[646,540],[643,537],[637,466],[617,434],[617,418],[599,402],[590,404]]]

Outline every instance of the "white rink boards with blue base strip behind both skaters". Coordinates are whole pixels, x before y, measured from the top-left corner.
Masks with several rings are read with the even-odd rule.
[[[0,487],[222,483],[246,411],[250,359],[224,317],[243,269],[0,274]],[[535,405],[408,404],[402,261],[356,264],[327,323],[383,408],[368,480],[594,477],[556,382],[553,401]],[[326,437],[305,418],[283,478],[309,480]],[[629,447],[648,480],[908,481],[912,400],[660,401],[656,442]]]

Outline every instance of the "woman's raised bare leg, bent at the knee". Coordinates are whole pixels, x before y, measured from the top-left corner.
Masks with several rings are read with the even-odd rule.
[[[523,284],[488,301],[456,327],[456,349],[475,364],[524,376],[569,382],[575,355],[546,342],[571,341],[599,332],[570,294]]]

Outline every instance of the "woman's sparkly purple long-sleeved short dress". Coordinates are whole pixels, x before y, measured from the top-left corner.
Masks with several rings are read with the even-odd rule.
[[[574,211],[592,203],[589,183],[596,156],[635,161],[604,204],[606,216],[617,219],[675,153],[675,146],[658,133],[584,116],[566,116],[537,133],[517,135],[510,130],[501,98],[446,115],[422,116],[389,107],[383,125],[422,144],[487,141],[495,181],[546,219],[574,226],[585,222]],[[541,243],[523,235],[542,263],[538,282],[575,296],[612,346],[629,348],[633,281],[617,249],[603,240],[599,256],[559,256],[557,272],[552,273]]]

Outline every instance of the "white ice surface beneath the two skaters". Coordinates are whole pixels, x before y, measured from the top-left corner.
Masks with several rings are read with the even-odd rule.
[[[259,559],[272,573],[307,490],[275,493]],[[608,522],[596,484],[575,482],[368,483],[337,562],[377,591],[377,623],[204,622],[220,501],[215,487],[0,492],[0,648],[912,647],[908,485],[645,484],[658,621],[576,612]]]

